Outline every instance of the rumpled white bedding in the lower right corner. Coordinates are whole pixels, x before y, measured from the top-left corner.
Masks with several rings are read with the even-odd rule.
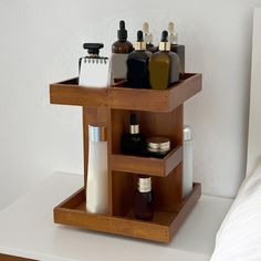
[[[236,260],[261,261],[261,164],[241,185],[210,261]]]

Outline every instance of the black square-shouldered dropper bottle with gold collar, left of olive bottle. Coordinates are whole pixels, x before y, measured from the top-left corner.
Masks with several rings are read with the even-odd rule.
[[[127,86],[133,88],[149,88],[148,61],[152,53],[146,51],[143,32],[137,32],[135,50],[127,58]]]

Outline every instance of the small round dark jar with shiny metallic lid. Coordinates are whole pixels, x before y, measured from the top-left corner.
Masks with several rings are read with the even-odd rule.
[[[149,137],[146,142],[152,157],[164,158],[170,152],[170,139],[167,137]]]

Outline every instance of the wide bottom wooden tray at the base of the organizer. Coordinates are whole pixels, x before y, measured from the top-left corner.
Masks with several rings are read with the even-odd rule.
[[[107,233],[169,242],[201,195],[201,185],[194,184],[194,190],[180,206],[178,212],[156,211],[152,221],[127,217],[93,215],[85,210],[84,188],[54,208],[54,222]]]

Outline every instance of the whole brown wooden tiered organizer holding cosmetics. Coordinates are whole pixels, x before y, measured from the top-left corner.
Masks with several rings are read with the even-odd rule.
[[[84,177],[82,189],[54,208],[54,222],[134,238],[169,242],[201,195],[200,184],[182,199],[182,125],[186,100],[201,90],[201,74],[185,74],[168,90],[104,88],[77,85],[77,79],[50,85],[52,104],[83,106]],[[167,136],[173,150],[163,159],[121,153],[121,135],[128,129],[129,114],[138,114],[146,136]],[[103,123],[108,132],[107,215],[85,209],[88,124]],[[137,175],[153,177],[154,218],[134,217]]]

